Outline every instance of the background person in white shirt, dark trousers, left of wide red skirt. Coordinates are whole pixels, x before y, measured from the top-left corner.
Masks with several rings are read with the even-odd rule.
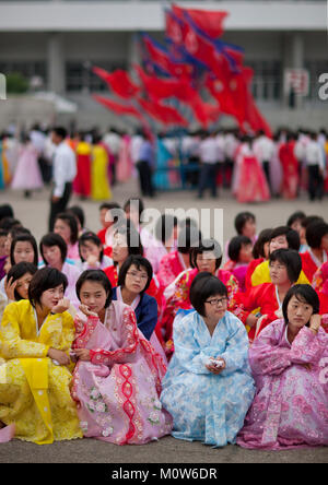
[[[215,133],[204,134],[199,145],[201,162],[198,199],[202,199],[204,189],[209,186],[212,197],[216,197],[216,170],[219,149]]]

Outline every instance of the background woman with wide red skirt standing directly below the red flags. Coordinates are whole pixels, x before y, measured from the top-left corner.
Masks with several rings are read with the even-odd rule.
[[[251,150],[248,138],[245,138],[238,149],[236,170],[234,190],[238,202],[263,202],[270,199],[263,169]]]

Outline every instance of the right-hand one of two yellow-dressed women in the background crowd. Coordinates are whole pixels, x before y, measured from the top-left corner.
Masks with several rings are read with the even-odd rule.
[[[96,137],[92,147],[91,165],[91,198],[93,200],[112,199],[108,181],[108,163],[107,150],[101,143],[101,137]]]

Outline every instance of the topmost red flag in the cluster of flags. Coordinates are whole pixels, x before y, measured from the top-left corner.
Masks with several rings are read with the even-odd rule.
[[[223,21],[229,15],[224,11],[183,9],[177,5],[172,5],[172,10],[179,19],[184,19],[185,12],[188,13],[196,25],[212,38],[221,37],[223,34]]]

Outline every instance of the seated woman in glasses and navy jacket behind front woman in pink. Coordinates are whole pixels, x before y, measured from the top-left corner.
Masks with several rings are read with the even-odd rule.
[[[163,346],[154,332],[157,324],[157,303],[145,294],[152,275],[152,265],[148,259],[138,255],[129,256],[119,272],[118,286],[113,288],[113,299],[122,301],[134,310],[138,329],[167,364]]]

